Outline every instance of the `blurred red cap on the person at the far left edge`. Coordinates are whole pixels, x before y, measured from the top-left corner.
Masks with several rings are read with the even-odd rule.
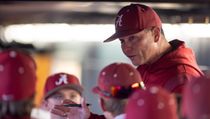
[[[31,56],[18,50],[0,51],[0,100],[20,101],[35,93],[36,64]]]

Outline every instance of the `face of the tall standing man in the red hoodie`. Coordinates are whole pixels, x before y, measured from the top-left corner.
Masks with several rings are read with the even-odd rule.
[[[136,66],[152,62],[157,43],[152,29],[119,38],[123,53]]]

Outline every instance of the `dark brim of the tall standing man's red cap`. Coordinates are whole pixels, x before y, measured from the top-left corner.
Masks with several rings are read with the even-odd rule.
[[[110,36],[109,38],[107,38],[106,40],[104,40],[104,42],[110,42],[110,41],[116,40],[117,38],[129,36],[129,35],[138,33],[140,31],[141,30],[139,30],[139,29],[137,29],[137,30],[129,30],[129,31],[120,31],[119,33],[115,33],[112,36]]]

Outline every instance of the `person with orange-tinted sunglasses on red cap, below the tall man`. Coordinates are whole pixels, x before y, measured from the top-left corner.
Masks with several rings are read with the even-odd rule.
[[[138,71],[126,63],[113,63],[101,70],[93,92],[99,95],[106,118],[124,119],[127,99],[136,89],[144,89]]]

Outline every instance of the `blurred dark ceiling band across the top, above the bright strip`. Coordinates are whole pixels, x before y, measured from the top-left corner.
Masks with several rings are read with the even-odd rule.
[[[165,23],[208,23],[210,0],[141,0],[153,7]],[[131,1],[135,3],[136,1]],[[113,23],[127,1],[1,1],[0,25],[23,23]]]

